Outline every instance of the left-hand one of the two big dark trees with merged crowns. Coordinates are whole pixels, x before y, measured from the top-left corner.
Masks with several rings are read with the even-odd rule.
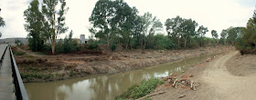
[[[93,25],[91,32],[95,37],[107,42],[108,47],[111,49],[113,36],[112,32],[112,19],[114,18],[113,3],[110,0],[99,0],[93,8],[89,21]]]

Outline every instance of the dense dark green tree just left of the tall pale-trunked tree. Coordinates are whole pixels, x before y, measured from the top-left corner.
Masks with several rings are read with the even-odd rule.
[[[38,6],[38,0],[33,0],[24,12],[25,21],[27,23],[24,26],[28,32],[28,46],[34,52],[40,51],[44,45],[44,16],[39,11]]]

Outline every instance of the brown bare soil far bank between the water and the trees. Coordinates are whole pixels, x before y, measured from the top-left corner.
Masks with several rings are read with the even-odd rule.
[[[174,62],[187,57],[212,55],[233,51],[232,46],[204,47],[193,50],[141,50],[107,53],[80,51],[69,55],[37,55],[26,49],[13,47],[14,51],[26,52],[16,55],[16,63],[25,82],[62,80],[95,74],[114,74],[146,66]]]

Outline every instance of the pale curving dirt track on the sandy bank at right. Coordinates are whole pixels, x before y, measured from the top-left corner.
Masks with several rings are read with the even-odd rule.
[[[250,76],[231,75],[225,63],[239,52],[223,55],[210,62],[202,75],[209,88],[215,90],[211,99],[253,100],[256,98],[256,74]]]

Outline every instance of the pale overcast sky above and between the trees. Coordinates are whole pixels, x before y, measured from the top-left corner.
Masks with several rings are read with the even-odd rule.
[[[1,38],[26,37],[23,12],[31,0],[0,0],[0,15],[5,20],[5,27],[0,27]],[[98,0],[66,0],[69,6],[67,26],[72,29],[74,37],[91,35],[89,17]],[[163,24],[167,18],[180,15],[183,18],[192,18],[198,25],[217,30],[229,26],[245,26],[255,9],[256,0],[124,0],[130,6],[136,6],[139,15],[150,12],[156,15]],[[165,32],[165,27],[164,27]],[[211,36],[208,32],[207,36]],[[65,37],[68,33],[60,35]]]

